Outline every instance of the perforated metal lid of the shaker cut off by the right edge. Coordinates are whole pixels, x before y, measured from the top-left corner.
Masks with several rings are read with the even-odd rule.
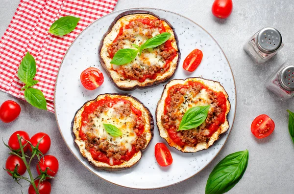
[[[288,91],[294,91],[294,65],[282,68],[278,74],[278,83]]]

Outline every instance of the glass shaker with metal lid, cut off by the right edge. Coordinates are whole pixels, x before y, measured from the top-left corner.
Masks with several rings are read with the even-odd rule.
[[[266,87],[282,100],[294,96],[294,65],[284,63],[266,82]]]

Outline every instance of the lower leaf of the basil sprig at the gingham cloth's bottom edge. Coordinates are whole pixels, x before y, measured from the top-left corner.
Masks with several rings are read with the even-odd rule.
[[[41,90],[28,87],[25,89],[25,100],[34,107],[47,110],[47,102]]]

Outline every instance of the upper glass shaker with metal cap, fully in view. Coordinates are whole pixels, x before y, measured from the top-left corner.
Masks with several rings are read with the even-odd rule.
[[[274,56],[283,46],[280,32],[273,27],[264,27],[245,43],[244,50],[257,65],[261,65]]]

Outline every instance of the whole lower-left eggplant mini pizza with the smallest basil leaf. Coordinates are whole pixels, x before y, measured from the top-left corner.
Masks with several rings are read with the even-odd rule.
[[[106,171],[135,165],[153,137],[153,128],[148,108],[132,96],[116,93],[85,103],[72,123],[74,143],[82,156]]]

